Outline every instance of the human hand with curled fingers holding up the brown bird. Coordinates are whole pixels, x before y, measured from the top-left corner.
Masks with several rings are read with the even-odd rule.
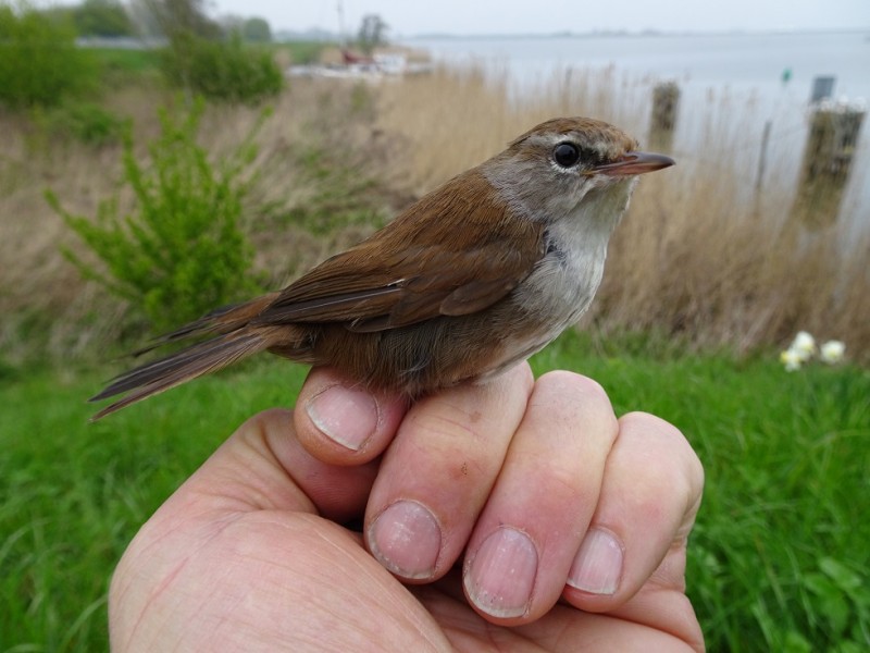
[[[676,429],[617,420],[576,374],[523,365],[407,408],[313,370],[130,543],[112,648],[703,650],[684,593],[703,483]]]

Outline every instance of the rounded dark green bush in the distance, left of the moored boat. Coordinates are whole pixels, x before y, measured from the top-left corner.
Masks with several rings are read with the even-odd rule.
[[[172,84],[226,102],[253,103],[284,88],[284,76],[271,52],[246,47],[238,35],[220,41],[178,34],[164,50],[161,64]]]

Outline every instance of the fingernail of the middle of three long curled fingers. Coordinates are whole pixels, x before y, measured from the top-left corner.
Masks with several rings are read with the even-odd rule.
[[[465,592],[494,617],[519,617],[529,611],[537,576],[537,550],[514,528],[502,527],[484,540],[464,575]]]

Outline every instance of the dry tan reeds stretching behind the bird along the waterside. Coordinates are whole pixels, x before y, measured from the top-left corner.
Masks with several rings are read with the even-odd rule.
[[[355,180],[374,180],[348,186],[343,201],[360,193],[359,201],[395,213],[556,115],[600,118],[644,141],[652,82],[612,67],[562,69],[518,89],[507,72],[480,65],[374,86],[300,81],[265,119],[258,109],[210,108],[202,135],[220,160],[264,120],[248,227],[258,273],[274,286],[374,229],[312,235],[287,219],[322,200],[324,185],[340,194]],[[157,108],[172,101],[133,86],[108,100],[133,118],[137,143],[157,133]],[[760,132],[751,102],[710,96],[691,111],[694,133],[688,140],[678,133],[672,151],[678,167],[643,180],[617,232],[585,328],[658,332],[736,352],[780,346],[803,329],[845,341],[848,356],[866,361],[870,235],[856,236],[857,220],[843,212],[824,229],[807,227],[794,217],[796,188],[776,174],[775,161],[755,193],[755,153],[747,156],[739,137]],[[87,356],[122,335],[128,308],[60,255],[61,245],[79,245],[42,197],[51,187],[66,208],[94,214],[117,190],[120,147],[47,140],[37,132],[22,118],[0,115],[0,348],[11,362],[35,350]],[[304,163],[308,150],[331,152],[351,173],[318,181]]]

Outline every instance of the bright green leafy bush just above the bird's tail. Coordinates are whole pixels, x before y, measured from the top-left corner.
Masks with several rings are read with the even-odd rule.
[[[136,198],[121,214],[117,198],[100,202],[96,220],[51,206],[97,256],[91,264],[66,257],[88,279],[141,308],[150,325],[166,330],[215,306],[254,292],[252,248],[241,230],[241,201],[250,182],[239,181],[256,153],[249,134],[223,170],[215,170],[196,137],[197,102],[183,115],[161,113],[162,133],[150,145],[150,167],[139,163],[128,137],[124,181]]]

